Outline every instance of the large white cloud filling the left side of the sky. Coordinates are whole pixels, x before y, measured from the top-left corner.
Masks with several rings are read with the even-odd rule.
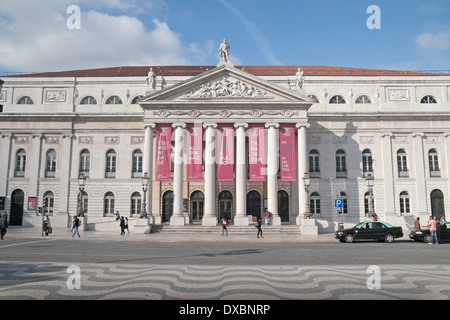
[[[74,1],[2,0],[0,70],[54,71],[124,65],[191,64],[204,55],[183,46],[180,35],[159,19],[146,26],[128,11],[161,1],[84,1],[81,29],[69,30],[66,9]],[[20,5],[20,4],[21,5]],[[85,4],[83,4],[85,3]],[[88,7],[92,3],[95,9]],[[103,6],[103,10],[102,9]],[[107,13],[115,10],[116,15]],[[125,12],[117,15],[117,12]]]

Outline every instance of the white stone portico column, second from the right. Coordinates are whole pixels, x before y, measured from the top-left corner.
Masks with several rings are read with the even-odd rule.
[[[272,214],[272,224],[281,225],[281,218],[278,214],[278,143],[277,130],[278,123],[266,123],[269,130],[267,138],[267,207]]]

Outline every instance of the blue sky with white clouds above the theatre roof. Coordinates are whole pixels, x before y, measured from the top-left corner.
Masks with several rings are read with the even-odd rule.
[[[236,65],[450,70],[449,17],[450,0],[2,0],[0,72],[215,65],[223,38]]]

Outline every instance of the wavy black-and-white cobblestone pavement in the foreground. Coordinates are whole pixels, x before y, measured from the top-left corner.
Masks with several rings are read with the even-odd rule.
[[[68,289],[70,264],[0,263],[0,300],[375,300],[449,299],[450,266],[380,266],[369,289],[367,266],[171,266],[80,264],[80,289]]]

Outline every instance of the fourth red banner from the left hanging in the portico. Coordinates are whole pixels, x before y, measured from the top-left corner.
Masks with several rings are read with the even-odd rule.
[[[265,181],[265,149],[264,149],[264,125],[249,125],[248,129],[248,164],[250,181]]]

